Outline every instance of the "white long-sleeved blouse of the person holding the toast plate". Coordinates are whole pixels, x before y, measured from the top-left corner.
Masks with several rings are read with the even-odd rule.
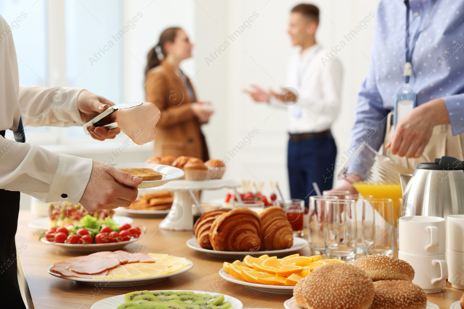
[[[0,34],[0,131],[15,130],[19,116],[26,126],[81,124],[77,111],[81,89],[65,88],[66,102],[53,105],[48,100],[52,88],[20,88],[13,34],[1,16]],[[53,153],[0,136],[0,189],[21,191],[44,202],[77,204],[91,171],[91,159]]]

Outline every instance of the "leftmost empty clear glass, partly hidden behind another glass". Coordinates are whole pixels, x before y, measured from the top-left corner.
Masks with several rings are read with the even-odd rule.
[[[336,196],[309,196],[309,249],[313,255],[325,254],[324,210],[326,201],[336,201]]]

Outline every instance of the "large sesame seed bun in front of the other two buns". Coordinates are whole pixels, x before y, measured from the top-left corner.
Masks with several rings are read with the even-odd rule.
[[[374,284],[358,267],[330,263],[301,279],[293,297],[305,309],[368,309],[374,300]]]

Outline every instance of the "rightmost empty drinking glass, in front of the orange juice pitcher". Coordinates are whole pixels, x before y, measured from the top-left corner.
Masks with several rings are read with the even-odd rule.
[[[362,204],[362,249],[365,255],[393,257],[395,215],[390,198],[365,198]]]

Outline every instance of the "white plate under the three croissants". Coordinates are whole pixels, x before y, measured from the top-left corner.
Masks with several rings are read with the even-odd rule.
[[[308,246],[308,241],[305,240],[304,238],[301,237],[296,237],[293,236],[293,246],[291,246],[288,249],[282,249],[282,250],[267,250],[267,251],[217,251],[217,250],[210,250],[201,247],[197,239],[195,237],[192,237],[191,239],[187,240],[187,247],[199,251],[199,252],[205,252],[205,253],[210,253],[213,256],[216,256],[218,258],[234,258],[234,259],[242,259],[245,257],[245,255],[251,255],[253,257],[258,257],[263,254],[267,254],[269,256],[277,256],[281,257],[284,255],[288,255],[287,253],[301,250],[304,247]]]

